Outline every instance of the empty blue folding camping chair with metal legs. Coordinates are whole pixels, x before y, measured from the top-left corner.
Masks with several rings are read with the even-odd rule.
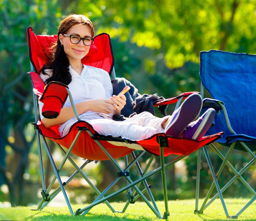
[[[212,98],[216,99],[208,100],[218,105],[221,110],[215,117],[215,125],[207,133],[212,134],[214,131],[223,131],[225,133],[222,138],[217,140],[218,143],[216,145],[210,143],[209,146],[203,148],[207,164],[209,165],[213,177],[213,183],[200,209],[198,209],[198,198],[201,150],[198,151],[195,213],[203,213],[203,211],[219,197],[226,216],[228,218],[237,218],[256,199],[255,190],[249,185],[249,182],[243,178],[256,159],[253,152],[256,150],[256,55],[210,50],[209,52],[201,52],[200,62],[200,76],[202,80],[201,94],[204,96],[203,92],[204,88],[206,88]],[[223,148],[220,145],[225,147]],[[217,160],[213,162],[211,157],[209,157],[209,147],[214,150],[214,153],[217,153],[222,160],[218,171],[217,168],[215,168],[215,171],[213,169],[213,164]],[[236,155],[234,152],[236,152]],[[234,164],[235,161],[236,163],[242,155],[244,156],[244,153],[250,155],[248,158],[249,163],[246,163],[243,168],[239,169],[237,169],[237,165],[232,166],[231,162]],[[220,177],[224,169],[227,168],[234,176],[232,175],[231,180],[225,181],[226,184],[222,186],[219,182]],[[224,177],[224,180],[225,179],[226,177]],[[239,184],[241,182],[243,186],[249,190],[252,199],[235,215],[230,216],[223,196],[225,194],[224,191],[228,188],[232,188],[232,184],[235,182]],[[212,192],[214,187],[217,193],[213,196]],[[242,188],[241,191],[234,192],[234,197],[242,197],[242,190],[244,190],[244,188]],[[213,197],[210,199],[211,196]]]

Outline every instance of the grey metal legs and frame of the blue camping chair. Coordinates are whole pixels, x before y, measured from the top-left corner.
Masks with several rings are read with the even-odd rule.
[[[204,96],[204,86],[203,84],[201,83],[201,95],[202,97]],[[227,110],[226,110],[226,107],[225,105],[223,105],[221,102],[218,102],[224,115],[225,115],[225,119],[226,119],[226,123],[227,123],[227,126],[228,126],[228,129],[229,131],[232,133],[232,134],[236,134],[236,132],[233,130],[233,128],[231,127],[230,125],[230,121],[229,121],[229,117],[228,117],[228,113],[227,113]],[[256,200],[256,192],[255,190],[253,190],[251,188],[251,186],[245,181],[245,179],[243,178],[242,174],[247,171],[250,166],[255,162],[256,160],[256,155],[253,153],[253,151],[244,143],[244,142],[241,142],[239,141],[239,143],[241,143],[241,145],[244,147],[244,149],[252,156],[252,159],[250,160],[249,163],[247,163],[241,170],[237,171],[229,162],[229,157],[230,155],[232,154],[232,151],[234,150],[234,147],[236,145],[237,142],[234,142],[232,143],[232,145],[229,147],[229,150],[227,151],[226,153],[226,156],[224,156],[219,150],[217,147],[215,147],[213,145],[213,143],[210,143],[209,146],[221,159],[222,159],[222,164],[218,170],[218,172],[215,172],[214,171],[214,168],[213,168],[213,165],[212,165],[212,162],[211,162],[211,159],[209,157],[209,154],[208,154],[208,151],[207,151],[207,147],[204,146],[202,149],[204,151],[204,155],[205,155],[205,158],[206,158],[206,161],[207,161],[207,164],[209,165],[209,169],[210,169],[210,172],[211,172],[211,175],[212,175],[212,178],[213,178],[213,182],[205,196],[205,199],[201,205],[201,208],[199,209],[199,182],[200,182],[200,167],[201,167],[201,149],[198,149],[198,152],[197,152],[197,175],[196,175],[196,203],[195,203],[195,214],[202,214],[203,211],[209,207],[211,205],[211,203],[217,199],[218,197],[220,198],[220,201],[221,201],[221,205],[222,205],[222,208],[225,212],[225,215],[227,218],[231,218],[231,219],[237,219],[239,215],[241,215],[243,213],[243,211],[249,207],[251,205],[252,202],[254,202]],[[218,183],[218,179],[221,175],[221,172],[223,171],[223,168],[227,166],[229,168],[229,170],[231,172],[234,173],[234,177],[226,183],[225,186],[223,186],[222,188],[220,188],[219,186],[219,183]],[[227,209],[227,206],[226,206],[226,203],[225,203],[225,200],[223,198],[223,195],[222,193],[231,185],[233,184],[236,180],[239,180],[241,181],[244,186],[254,195],[254,197],[252,197],[252,199],[246,203],[246,205],[244,205],[239,211],[237,211],[237,213],[235,215],[229,215],[228,213],[228,209]],[[210,196],[212,194],[212,191],[214,189],[214,187],[216,188],[217,190],[217,193],[210,199]],[[210,199],[210,200],[209,200]],[[208,201],[209,200],[209,201]]]

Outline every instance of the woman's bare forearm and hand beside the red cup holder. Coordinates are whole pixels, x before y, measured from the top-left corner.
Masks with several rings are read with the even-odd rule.
[[[114,101],[113,101],[114,100]],[[110,114],[114,112],[118,112],[119,102],[115,99],[92,99],[85,100],[81,103],[76,104],[76,111],[78,115],[81,115],[87,111],[93,111],[96,113]],[[112,111],[113,110],[113,111]],[[121,110],[120,110],[121,111]],[[42,122],[46,128],[51,128],[52,126],[63,124],[73,118],[75,116],[73,109],[71,106],[65,107],[61,109],[61,112],[57,118],[49,119],[43,118]]]

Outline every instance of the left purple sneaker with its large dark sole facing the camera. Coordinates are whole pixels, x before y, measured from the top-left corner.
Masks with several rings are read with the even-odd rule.
[[[165,134],[179,137],[188,124],[195,120],[202,108],[202,97],[198,94],[190,95],[181,106],[170,116]]]

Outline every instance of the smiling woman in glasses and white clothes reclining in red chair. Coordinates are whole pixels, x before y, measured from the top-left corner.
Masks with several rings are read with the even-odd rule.
[[[69,15],[59,26],[58,41],[54,46],[52,60],[42,68],[41,78],[49,83],[59,81],[67,84],[76,104],[79,117],[90,123],[102,135],[113,135],[130,140],[143,140],[156,133],[174,137],[201,139],[209,129],[215,111],[210,108],[196,122],[202,98],[198,94],[189,96],[171,116],[158,118],[148,112],[134,115],[125,121],[114,121],[126,104],[124,95],[113,95],[109,74],[96,67],[83,65],[81,60],[93,43],[94,28],[84,15]],[[39,102],[40,113],[43,103]],[[59,125],[60,134],[65,136],[77,120],[70,100],[57,118],[41,119],[46,128]]]

